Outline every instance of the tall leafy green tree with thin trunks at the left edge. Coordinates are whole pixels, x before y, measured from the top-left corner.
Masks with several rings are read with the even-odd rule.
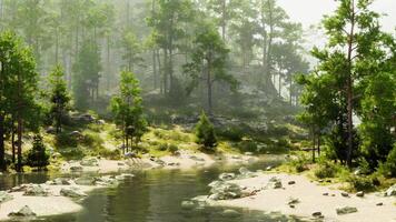
[[[0,165],[4,163],[4,134],[13,131],[17,122],[17,170],[22,170],[22,133],[24,127],[34,127],[40,109],[36,102],[38,73],[29,48],[12,32],[0,34]],[[11,120],[9,129],[4,122]],[[12,132],[13,133],[13,132]]]

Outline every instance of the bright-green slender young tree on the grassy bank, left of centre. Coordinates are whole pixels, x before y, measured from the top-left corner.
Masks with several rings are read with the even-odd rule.
[[[113,97],[110,104],[117,125],[123,132],[123,153],[129,144],[136,147],[146,131],[142,99],[140,97],[139,81],[129,71],[121,72],[120,92]]]

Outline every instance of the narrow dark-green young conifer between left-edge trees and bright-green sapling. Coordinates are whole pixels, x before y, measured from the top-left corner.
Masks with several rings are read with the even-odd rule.
[[[69,109],[70,95],[65,81],[65,72],[60,65],[57,65],[49,77],[50,81],[50,101],[51,118],[56,123],[56,131],[62,131],[62,119]]]

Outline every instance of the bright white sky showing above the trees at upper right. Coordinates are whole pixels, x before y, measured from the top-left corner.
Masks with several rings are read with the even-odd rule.
[[[323,16],[331,13],[337,2],[335,0],[278,0],[293,21],[298,21],[305,28],[317,24]],[[396,0],[376,0],[372,9],[378,13],[386,13],[380,19],[385,31],[394,31],[396,27]]]

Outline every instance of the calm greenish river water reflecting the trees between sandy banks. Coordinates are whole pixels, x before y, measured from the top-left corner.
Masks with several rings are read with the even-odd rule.
[[[258,162],[249,170],[265,169],[278,161]],[[239,167],[215,165],[208,169],[135,171],[117,188],[95,190],[81,204],[85,210],[34,221],[48,222],[260,222],[300,221],[277,213],[264,213],[236,209],[240,216],[227,218],[221,208],[184,210],[181,201],[209,193],[208,183],[221,172],[235,172]],[[42,183],[57,176],[48,174],[21,174],[1,176],[2,190],[27,182]]]

